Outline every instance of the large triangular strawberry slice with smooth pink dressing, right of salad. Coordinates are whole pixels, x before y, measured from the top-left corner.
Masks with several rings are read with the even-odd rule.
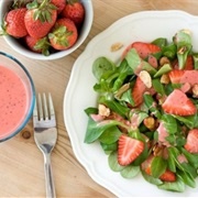
[[[175,89],[162,105],[166,113],[177,116],[195,114],[197,109],[193,101],[179,89]]]

